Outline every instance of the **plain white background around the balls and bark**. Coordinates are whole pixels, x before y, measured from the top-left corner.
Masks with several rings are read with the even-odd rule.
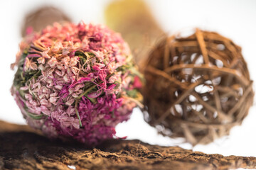
[[[104,23],[104,8],[107,0],[8,0],[0,1],[0,119],[12,123],[25,124],[14,99],[9,91],[14,72],[10,64],[14,62],[21,40],[20,30],[23,16],[42,5],[53,5],[63,9],[78,23]],[[256,1],[253,0],[149,0],[151,8],[160,26],[169,34],[187,28],[214,30],[232,39],[242,47],[242,54],[250,69],[251,79],[256,78]],[[254,86],[255,88],[255,86]],[[241,155],[256,157],[256,108],[250,109],[242,126],[235,127],[230,136],[223,137],[210,145],[197,145],[193,150],[223,155]],[[144,123],[142,113],[135,109],[131,120],[117,126],[117,135],[128,139],[139,139],[157,145],[178,145],[178,140],[157,135],[156,130]],[[181,147],[191,149],[183,143]]]

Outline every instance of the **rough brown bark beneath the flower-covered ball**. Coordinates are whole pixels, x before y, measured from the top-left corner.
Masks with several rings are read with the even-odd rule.
[[[0,121],[0,169],[235,169],[255,168],[255,157],[223,157],[139,140],[111,140],[89,149],[50,141],[26,125]]]

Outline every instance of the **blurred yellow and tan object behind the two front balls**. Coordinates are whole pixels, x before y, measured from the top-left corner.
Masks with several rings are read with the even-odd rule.
[[[105,21],[128,42],[140,69],[155,41],[165,35],[142,0],[113,1],[105,10]]]

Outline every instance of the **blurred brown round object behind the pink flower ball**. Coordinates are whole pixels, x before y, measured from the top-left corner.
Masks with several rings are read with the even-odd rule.
[[[33,28],[33,31],[40,31],[54,22],[61,23],[63,21],[71,21],[71,19],[58,8],[53,6],[43,6],[36,9],[36,11],[31,11],[25,16],[21,35],[24,37],[27,34],[27,31],[29,31],[28,28]]]

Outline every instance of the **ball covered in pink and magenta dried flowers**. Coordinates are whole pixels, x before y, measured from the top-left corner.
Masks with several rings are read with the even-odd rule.
[[[97,145],[141,98],[127,43],[102,25],[55,23],[21,42],[12,94],[28,125]]]

